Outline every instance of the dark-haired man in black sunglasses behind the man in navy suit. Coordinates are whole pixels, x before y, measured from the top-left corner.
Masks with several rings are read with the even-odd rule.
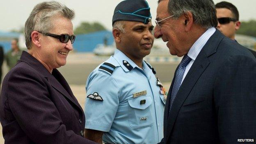
[[[238,9],[229,2],[219,2],[215,5],[217,10],[218,25],[217,29],[226,37],[235,41],[235,31],[240,28]],[[256,51],[251,50],[251,53],[256,57]]]

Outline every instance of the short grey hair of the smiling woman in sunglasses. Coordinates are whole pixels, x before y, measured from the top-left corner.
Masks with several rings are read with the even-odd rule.
[[[58,14],[70,20],[75,17],[73,10],[56,1],[41,2],[34,7],[24,27],[27,49],[31,49],[31,33],[35,30],[43,33],[52,30],[52,18]]]

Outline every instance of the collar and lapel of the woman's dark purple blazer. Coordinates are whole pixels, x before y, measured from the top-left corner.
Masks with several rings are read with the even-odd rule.
[[[68,101],[71,101],[71,103],[75,104],[80,110],[82,110],[82,107],[73,95],[68,83],[57,69],[53,69],[53,72],[50,73],[43,64],[41,64],[41,62],[25,51],[22,52],[20,61],[27,63],[33,69],[38,71],[38,73],[48,80],[52,87],[59,91]]]

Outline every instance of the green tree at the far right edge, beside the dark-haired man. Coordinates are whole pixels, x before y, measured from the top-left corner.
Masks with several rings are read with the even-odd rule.
[[[236,33],[256,37],[256,20],[242,21],[240,29]]]

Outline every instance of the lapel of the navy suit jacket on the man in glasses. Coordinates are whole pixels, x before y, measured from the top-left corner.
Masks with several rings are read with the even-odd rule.
[[[170,91],[171,91],[174,80],[172,81],[171,87],[169,89],[168,97],[167,97],[168,107],[165,107],[165,109],[166,109],[165,114],[169,113],[169,117],[167,117],[167,120],[165,120],[166,122],[164,123],[165,127],[167,126],[166,131],[165,131],[166,132],[165,136],[167,136],[165,138],[166,142],[169,139],[172,128],[173,128],[176,118],[178,116],[178,112],[181,109],[181,106],[183,105],[187,96],[190,94],[190,91],[194,87],[197,80],[200,78],[203,71],[205,71],[207,66],[210,64],[208,57],[210,55],[213,55],[214,53],[216,53],[217,47],[222,39],[223,39],[223,35],[218,30],[216,30],[216,32],[207,41],[205,46],[203,46],[201,52],[195,59],[190,70],[188,71],[185,79],[183,80],[181,87],[178,90],[178,93],[174,99],[174,103],[171,107],[170,112],[168,112],[169,111],[169,103],[170,103],[170,98],[168,98],[168,97],[170,97],[169,95],[171,94]],[[174,78],[175,78],[175,75],[174,75]],[[165,117],[165,119],[166,119],[166,117]]]

